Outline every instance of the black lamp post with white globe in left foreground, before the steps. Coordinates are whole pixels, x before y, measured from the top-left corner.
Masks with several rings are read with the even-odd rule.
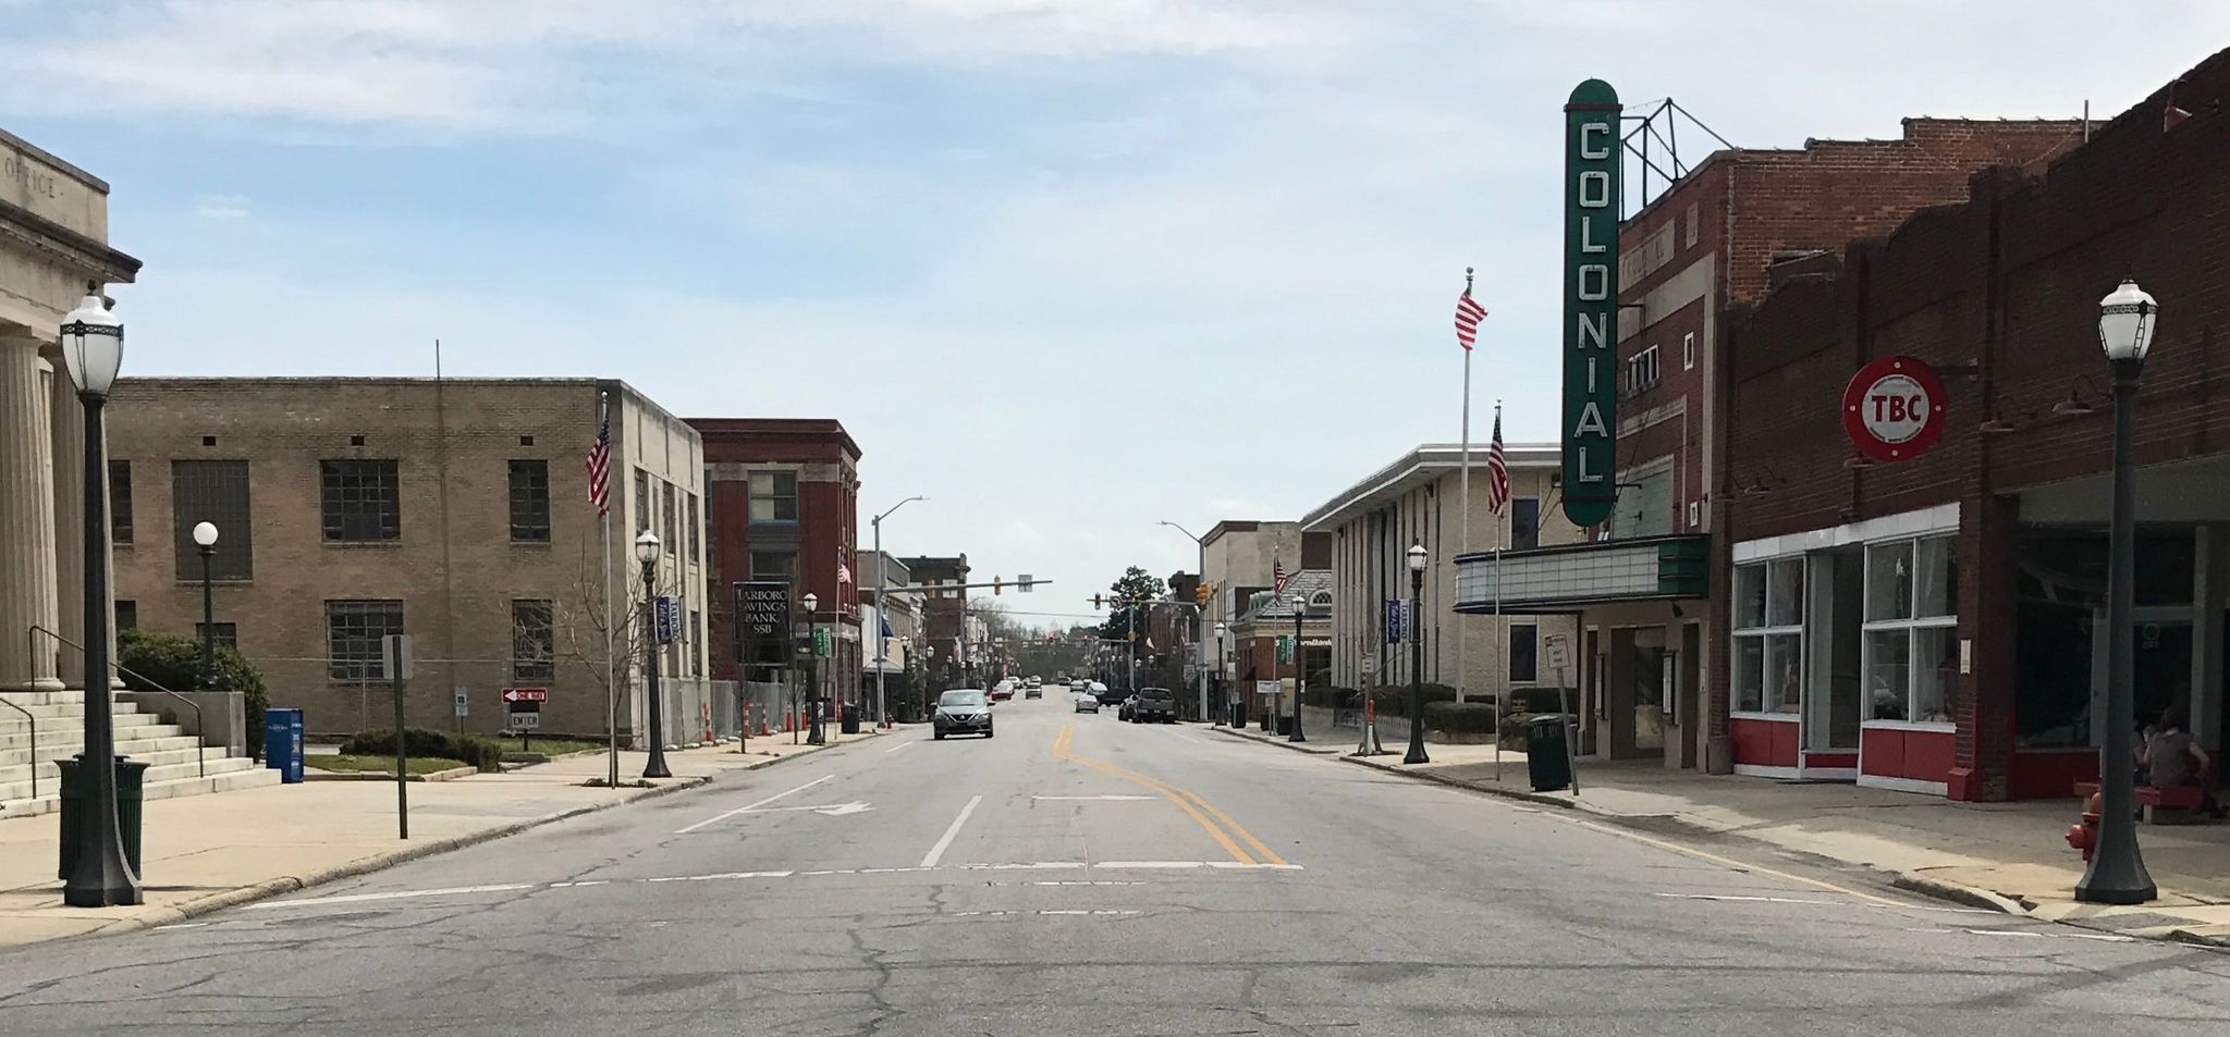
[[[100,406],[125,364],[125,326],[109,314],[100,290],[62,317],[62,366],[85,404],[85,749],[78,776],[89,783],[80,803],[91,816],[78,825],[78,856],[62,881],[62,903],[114,908],[140,903],[140,883],[125,859],[116,818],[116,727],[109,718],[109,462]]]

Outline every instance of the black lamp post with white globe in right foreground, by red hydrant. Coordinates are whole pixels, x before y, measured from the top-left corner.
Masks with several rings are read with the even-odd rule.
[[[2136,408],[2136,375],[2152,350],[2159,306],[2123,281],[2098,301],[2098,348],[2114,375],[2114,511],[2105,549],[2105,738],[2098,745],[2098,847],[2076,883],[2076,899],[2087,903],[2145,903],[2156,890],[2145,859],[2136,850],[2136,754],[2130,734],[2136,727],[2132,622],[2136,604],[2136,473],[2130,457],[2132,410]]]

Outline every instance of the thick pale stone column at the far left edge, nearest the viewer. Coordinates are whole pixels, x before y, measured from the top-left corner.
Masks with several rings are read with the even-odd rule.
[[[31,624],[56,629],[45,379],[36,339],[0,337],[0,691],[62,687],[54,642],[29,640]]]

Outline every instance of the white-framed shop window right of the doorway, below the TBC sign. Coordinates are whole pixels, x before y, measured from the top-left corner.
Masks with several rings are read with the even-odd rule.
[[[1867,720],[1951,723],[1958,558],[1951,537],[1867,544]]]

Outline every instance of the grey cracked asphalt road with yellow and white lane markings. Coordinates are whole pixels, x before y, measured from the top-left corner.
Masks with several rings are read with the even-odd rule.
[[[997,718],[4,952],[0,1035],[2230,1033],[2210,950],[1075,716],[1055,689]]]

